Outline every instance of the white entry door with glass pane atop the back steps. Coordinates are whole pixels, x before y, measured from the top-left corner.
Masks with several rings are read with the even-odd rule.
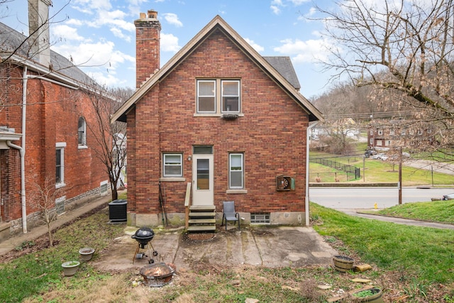
[[[192,205],[214,205],[213,155],[193,155]]]

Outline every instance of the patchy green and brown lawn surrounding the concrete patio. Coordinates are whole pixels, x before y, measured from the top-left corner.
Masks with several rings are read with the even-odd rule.
[[[27,243],[27,255],[0,259],[0,302],[204,303],[254,298],[314,303],[362,287],[351,281],[355,277],[381,287],[384,302],[454,302],[454,231],[361,219],[317,204],[311,204],[316,231],[339,253],[372,265],[372,270],[220,267],[208,261],[190,270],[177,269],[170,285],[155,289],[137,285],[138,272],[102,272],[87,262],[73,277],[63,277],[61,263],[77,260],[80,247],[96,248],[96,260],[123,234],[124,226],[105,223],[108,217],[108,210],[101,209],[60,228],[55,247],[33,250],[38,243]]]

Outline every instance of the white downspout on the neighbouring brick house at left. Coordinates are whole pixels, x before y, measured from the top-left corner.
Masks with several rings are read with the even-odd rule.
[[[22,146],[6,141],[6,145],[19,150],[21,155],[21,204],[22,204],[22,232],[27,233],[27,204],[26,204],[26,105],[27,105],[27,67],[23,68],[22,79]]]

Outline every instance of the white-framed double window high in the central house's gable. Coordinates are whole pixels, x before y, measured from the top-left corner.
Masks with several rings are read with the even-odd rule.
[[[197,114],[240,114],[240,80],[198,79]]]

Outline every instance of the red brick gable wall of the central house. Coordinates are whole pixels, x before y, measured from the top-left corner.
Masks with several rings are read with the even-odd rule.
[[[194,116],[198,77],[240,79],[244,117],[227,121]],[[163,152],[184,153],[186,181],[162,182],[166,188],[167,212],[184,212],[186,184],[192,181],[192,162],[186,159],[192,155],[192,145],[214,145],[217,211],[221,211],[222,201],[226,200],[235,200],[237,211],[304,211],[308,121],[307,114],[295,101],[231,40],[215,33],[160,82],[159,87],[138,101],[135,108],[138,213],[160,213],[157,183],[162,173]],[[245,153],[247,194],[226,193],[229,152]],[[131,165],[130,155],[128,165]],[[277,175],[294,177],[296,189],[277,192]]]

